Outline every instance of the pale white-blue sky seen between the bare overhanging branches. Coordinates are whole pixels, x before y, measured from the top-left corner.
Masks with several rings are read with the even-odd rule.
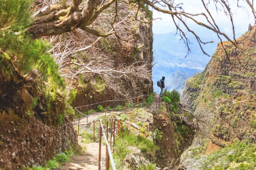
[[[204,0],[205,2],[208,2],[208,0]],[[230,18],[225,16],[223,12],[216,12],[215,6],[212,3],[212,0],[209,0],[211,3],[209,5],[209,10],[213,15],[213,18],[215,22],[218,24],[218,26],[221,28],[221,31],[228,34],[229,36],[233,37],[232,34],[232,25],[230,22]],[[182,8],[184,11],[189,13],[207,13],[204,9],[204,6],[201,2],[201,0],[175,0],[175,3],[183,3]],[[249,23],[253,26],[255,21],[253,14],[251,12],[251,9],[247,4],[244,3],[244,1],[240,0],[239,5],[243,6],[244,8],[237,8],[237,0],[229,0],[231,11],[233,12],[234,17],[234,26],[235,26],[235,32],[236,32],[236,38],[240,37],[242,34],[244,34],[246,31],[248,31],[248,25]],[[162,33],[168,33],[168,32],[176,32],[176,27],[173,24],[172,18],[169,14],[163,14],[161,12],[158,12],[156,10],[153,10],[153,17],[154,18],[162,18],[162,20],[154,20],[153,22],[153,33],[154,34],[162,34]],[[202,17],[197,18],[201,22],[205,22],[205,20]],[[201,26],[198,26],[197,24],[193,23],[192,20],[187,20],[186,23],[189,25],[190,28],[192,28],[194,31],[197,31]],[[201,28],[200,28],[201,29]],[[199,29],[199,30],[200,30]],[[206,29],[206,28],[202,28]],[[214,34],[214,32],[208,31],[209,34]],[[199,33],[200,34],[200,33]]]

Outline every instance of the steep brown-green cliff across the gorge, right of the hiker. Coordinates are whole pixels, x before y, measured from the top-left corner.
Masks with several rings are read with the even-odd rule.
[[[183,91],[190,109],[207,115],[210,131],[206,134],[220,146],[236,140],[256,140],[255,29],[236,40],[243,51],[224,42],[230,62],[218,44],[205,70],[188,79]]]

